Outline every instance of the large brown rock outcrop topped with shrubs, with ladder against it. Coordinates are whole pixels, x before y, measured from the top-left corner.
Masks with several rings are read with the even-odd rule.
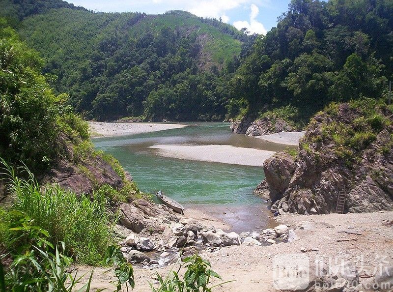
[[[392,108],[373,100],[329,106],[311,121],[294,159],[266,160],[272,211],[323,214],[393,209]]]

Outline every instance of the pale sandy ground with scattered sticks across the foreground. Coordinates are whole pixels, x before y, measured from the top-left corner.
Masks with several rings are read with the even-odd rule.
[[[299,268],[303,271],[309,269],[308,277],[302,281],[306,288],[298,291],[368,292],[376,291],[369,289],[372,285],[375,287],[382,283],[392,285],[393,273],[387,275],[387,271],[392,271],[393,266],[391,248],[393,228],[383,225],[383,220],[393,220],[392,211],[365,214],[283,215],[277,218],[279,220],[277,226],[287,226],[287,242],[283,239],[280,239],[282,242],[277,240],[277,235],[274,234],[276,231],[273,229],[274,232],[271,231],[269,235],[275,236],[276,239],[273,240],[278,242],[276,244],[247,244],[247,240],[246,244],[242,245],[200,251],[201,256],[208,260],[212,268],[223,277],[223,281],[233,281],[218,286],[214,291],[294,291],[292,284],[299,282],[291,279],[286,279],[286,282],[278,281],[280,278],[276,278],[273,271],[280,263],[284,263],[287,267],[293,266],[292,263],[297,263],[296,255],[307,259],[300,262]],[[163,259],[169,257],[166,254],[164,256]],[[154,260],[151,266],[136,264],[134,291],[150,291],[149,283],[153,286],[158,284],[155,273],[167,275],[172,269],[177,268],[176,260],[177,258],[174,257],[173,263],[168,262],[158,267],[155,267],[157,263]],[[316,268],[317,273],[313,272]],[[82,274],[90,270],[89,267],[80,267]],[[106,270],[107,268],[95,270],[92,289],[113,290],[108,284],[112,272],[105,272]],[[346,280],[345,283],[343,279]],[[323,283],[326,283],[325,288],[320,289]],[[279,289],[280,287],[283,289]]]

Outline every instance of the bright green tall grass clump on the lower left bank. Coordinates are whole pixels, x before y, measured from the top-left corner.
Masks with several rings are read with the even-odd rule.
[[[57,186],[40,187],[27,169],[24,171],[28,178],[22,179],[4,161],[1,164],[6,170],[3,175],[7,177],[8,190],[15,198],[0,221],[9,222],[12,227],[12,222],[19,220],[17,213],[23,213],[50,234],[50,242],[63,241],[67,254],[77,262],[97,265],[102,261],[112,244],[111,233],[117,219],[106,198],[100,194],[93,194],[92,199],[78,197]],[[15,242],[8,248],[17,246]]]

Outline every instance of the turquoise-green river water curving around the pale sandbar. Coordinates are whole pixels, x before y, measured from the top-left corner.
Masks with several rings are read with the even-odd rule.
[[[285,148],[232,134],[228,124],[193,122],[159,132],[93,139],[96,148],[111,153],[143,192],[163,190],[183,204],[214,215],[236,232],[271,226],[268,204],[253,193],[264,178],[261,167],[189,161],[162,157],[153,145],[230,145],[279,151]]]

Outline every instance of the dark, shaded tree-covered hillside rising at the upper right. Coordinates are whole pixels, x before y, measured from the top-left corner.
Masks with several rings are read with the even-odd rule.
[[[229,117],[299,122],[331,101],[380,98],[393,74],[393,1],[292,0],[230,81]],[[265,114],[266,115],[266,114]]]

